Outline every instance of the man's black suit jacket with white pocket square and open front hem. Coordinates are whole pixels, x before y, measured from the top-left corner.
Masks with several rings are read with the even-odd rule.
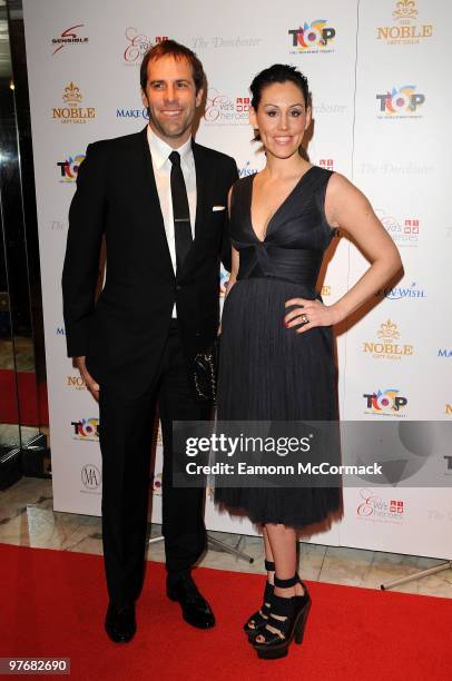
[[[177,277],[146,128],[89,145],[79,168],[62,273],[68,356],[85,355],[100,385],[128,396],[143,393],[158,372],[174,303],[187,367],[217,333],[222,250],[226,266],[230,263],[227,194],[237,167],[233,158],[196,142],[193,152],[195,239]],[[104,235],[107,274],[96,302]]]

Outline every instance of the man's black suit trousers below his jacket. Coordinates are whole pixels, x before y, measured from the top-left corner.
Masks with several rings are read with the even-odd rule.
[[[173,421],[210,417],[212,405],[195,399],[176,320],[171,320],[159,371],[148,389],[125,398],[100,386],[102,541],[107,586],[118,605],[143,588],[153,425],[158,405],[164,440],[163,534],[169,579],[185,572],[206,546],[204,490],[173,486]]]

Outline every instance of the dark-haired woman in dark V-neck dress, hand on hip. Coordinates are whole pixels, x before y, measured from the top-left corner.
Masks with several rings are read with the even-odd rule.
[[[345,177],[312,166],[302,140],[311,124],[306,78],[275,65],[252,86],[250,124],[265,168],[229,196],[233,268],[222,319],[218,421],[336,421],[332,326],[401,268],[392,239]],[[345,229],[371,263],[334,305],[316,293],[323,256]],[[261,525],[267,582],[245,624],[262,658],[301,643],[311,606],[296,572],[297,530],[340,507],[337,487],[222,487],[215,500]]]

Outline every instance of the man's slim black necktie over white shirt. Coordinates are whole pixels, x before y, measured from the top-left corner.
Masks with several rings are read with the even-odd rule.
[[[180,168],[180,154],[171,151],[171,198],[173,216],[176,241],[176,272],[180,267],[190,249],[193,237],[190,226],[190,209],[188,206],[187,189],[185,187],[184,175]]]

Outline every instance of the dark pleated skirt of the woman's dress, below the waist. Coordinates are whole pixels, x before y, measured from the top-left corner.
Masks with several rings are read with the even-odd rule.
[[[218,421],[337,420],[331,327],[284,326],[289,298],[312,289],[275,278],[237,280],[226,297],[218,369]],[[304,527],[340,506],[337,487],[217,487],[215,501],[254,523]]]

